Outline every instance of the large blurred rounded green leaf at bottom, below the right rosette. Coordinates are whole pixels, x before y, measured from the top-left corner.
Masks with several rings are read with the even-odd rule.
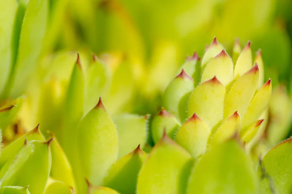
[[[256,194],[256,172],[235,140],[214,146],[195,166],[187,194]]]

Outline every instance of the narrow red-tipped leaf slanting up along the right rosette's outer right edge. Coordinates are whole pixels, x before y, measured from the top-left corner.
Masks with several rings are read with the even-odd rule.
[[[272,94],[272,82],[267,81],[253,97],[245,116],[242,119],[242,128],[252,124],[267,108]]]

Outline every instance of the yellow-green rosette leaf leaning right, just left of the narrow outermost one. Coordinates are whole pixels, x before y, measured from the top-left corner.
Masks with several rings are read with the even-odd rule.
[[[257,65],[234,82],[225,100],[224,119],[236,111],[242,116],[245,115],[247,108],[256,92],[257,82]]]

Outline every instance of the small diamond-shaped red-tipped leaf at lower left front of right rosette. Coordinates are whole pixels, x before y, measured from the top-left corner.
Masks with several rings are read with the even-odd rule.
[[[175,141],[193,158],[204,154],[211,129],[195,113],[177,131]]]

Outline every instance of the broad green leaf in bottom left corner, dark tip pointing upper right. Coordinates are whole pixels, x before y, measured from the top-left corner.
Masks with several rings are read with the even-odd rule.
[[[51,170],[51,141],[52,139],[48,142],[33,140],[24,144],[14,160],[10,162],[1,185],[22,187],[29,185],[31,194],[42,194]]]

